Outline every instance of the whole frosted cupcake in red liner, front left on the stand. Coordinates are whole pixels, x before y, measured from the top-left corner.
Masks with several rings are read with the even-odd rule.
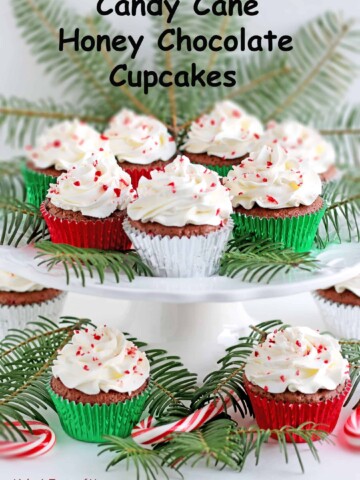
[[[98,151],[50,185],[41,213],[54,243],[129,250],[122,224],[136,192],[130,176],[107,151]]]

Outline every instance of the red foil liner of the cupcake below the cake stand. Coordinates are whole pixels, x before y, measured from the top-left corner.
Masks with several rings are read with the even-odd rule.
[[[277,402],[256,395],[245,381],[245,389],[249,395],[256,422],[260,428],[265,430],[280,429],[285,426],[297,428],[303,423],[313,422],[318,425],[319,431],[331,433],[339,420],[341,408],[350,388],[351,382],[348,381],[343,392],[332,400],[317,403],[290,403]],[[314,429],[313,425],[304,426],[304,430],[311,429]],[[277,438],[276,435],[272,435],[272,437]],[[304,443],[304,440],[298,435],[286,435],[288,443],[291,443],[291,439],[296,443]],[[319,440],[319,437],[313,435],[312,440]]]

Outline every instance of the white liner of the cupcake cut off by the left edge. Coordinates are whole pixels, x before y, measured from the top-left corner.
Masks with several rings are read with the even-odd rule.
[[[28,322],[38,320],[39,316],[57,321],[61,315],[65,299],[66,293],[62,293],[42,303],[16,306],[0,305],[0,339],[7,335],[9,329],[22,330]]]

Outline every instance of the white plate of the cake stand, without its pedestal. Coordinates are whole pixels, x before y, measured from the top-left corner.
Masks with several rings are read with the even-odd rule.
[[[104,284],[87,277],[86,287],[71,278],[66,284],[63,267],[48,272],[38,267],[33,247],[0,247],[0,269],[30,278],[51,288],[124,300],[168,303],[240,302],[260,298],[283,297],[319,288],[328,288],[360,273],[360,246],[342,244],[328,247],[318,255],[321,268],[307,272],[294,270],[274,279],[270,284],[248,283],[240,278],[146,278],[129,282],[125,276],[116,283],[109,273]]]

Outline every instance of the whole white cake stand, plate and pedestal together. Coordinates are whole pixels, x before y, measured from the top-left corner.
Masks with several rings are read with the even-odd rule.
[[[197,352],[203,362],[219,358],[224,347],[234,344],[248,332],[250,324],[257,323],[247,314],[243,302],[328,288],[360,272],[360,247],[349,243],[330,246],[320,253],[317,257],[321,265],[319,270],[292,271],[277,277],[270,285],[220,276],[200,279],[138,277],[133,282],[122,276],[120,283],[116,283],[109,273],[104,284],[87,276],[84,288],[76,278],[71,278],[67,285],[61,266],[51,272],[44,266],[38,267],[35,254],[32,246],[0,247],[0,269],[51,288],[127,300],[120,311],[114,312],[122,328],[152,346],[166,346],[170,351],[172,343],[183,343],[187,351]],[[103,308],[107,308],[105,300]]]

